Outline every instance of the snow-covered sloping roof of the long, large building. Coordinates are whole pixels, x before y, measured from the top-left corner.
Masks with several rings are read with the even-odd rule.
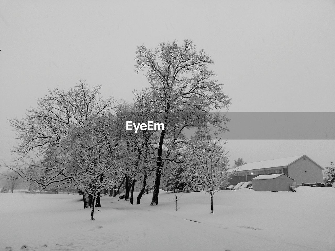
[[[246,170],[256,170],[256,169],[271,168],[271,167],[288,166],[289,164],[293,163],[294,161],[300,159],[303,156],[306,156],[306,155],[299,155],[299,156],[286,157],[286,158],[273,159],[273,160],[263,160],[263,161],[258,161],[258,162],[250,162],[242,166],[232,168],[229,171],[230,172],[231,171],[246,171]]]

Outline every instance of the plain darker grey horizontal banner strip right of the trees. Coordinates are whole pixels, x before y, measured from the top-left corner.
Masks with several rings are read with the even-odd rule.
[[[222,113],[223,114],[223,113]],[[335,112],[225,112],[234,140],[334,140]]]

